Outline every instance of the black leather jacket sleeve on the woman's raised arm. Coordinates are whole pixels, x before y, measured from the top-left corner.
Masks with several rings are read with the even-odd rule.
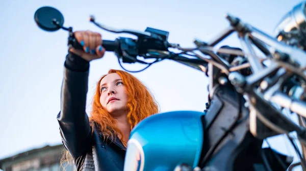
[[[65,63],[61,90],[61,111],[57,119],[62,142],[74,159],[91,147],[91,127],[85,111],[88,74],[88,70],[73,71],[68,69]]]

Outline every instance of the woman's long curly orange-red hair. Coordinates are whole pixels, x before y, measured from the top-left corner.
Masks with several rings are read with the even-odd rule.
[[[147,87],[143,85],[141,81],[133,75],[121,70],[109,70],[108,74],[112,73],[117,73],[121,77],[125,92],[128,96],[126,104],[127,121],[129,121],[131,125],[131,130],[144,118],[159,112],[158,104],[154,96],[152,96]],[[100,82],[108,74],[102,76],[96,84],[89,120],[92,131],[95,123],[103,133],[104,139],[110,138],[113,140],[117,134],[120,134],[122,143],[126,145],[127,142],[123,142],[123,134],[117,127],[116,120],[100,104]],[[61,158],[61,165],[64,162],[69,164],[70,161],[72,161],[69,152],[66,149],[64,149],[64,151],[65,152]]]

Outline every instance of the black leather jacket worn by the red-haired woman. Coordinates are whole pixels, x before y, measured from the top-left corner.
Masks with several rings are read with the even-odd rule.
[[[102,134],[89,125],[85,112],[88,70],[64,68],[61,111],[57,116],[62,142],[73,157],[77,170],[122,171],[126,148],[116,138],[103,141]]]

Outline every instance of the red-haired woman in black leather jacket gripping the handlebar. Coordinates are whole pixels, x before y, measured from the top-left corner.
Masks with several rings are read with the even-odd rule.
[[[110,70],[97,83],[88,118],[85,106],[89,62],[103,57],[105,49],[99,33],[77,31],[74,35],[84,51],[69,49],[65,61],[61,112],[57,117],[68,154],[63,158],[67,161],[70,156],[77,170],[121,171],[131,129],[158,113],[157,103],[138,79]]]

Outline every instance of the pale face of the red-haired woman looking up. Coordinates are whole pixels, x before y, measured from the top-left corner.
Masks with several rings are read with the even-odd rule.
[[[100,93],[100,104],[111,115],[119,116],[126,112],[128,96],[117,73],[109,74],[101,80]]]

